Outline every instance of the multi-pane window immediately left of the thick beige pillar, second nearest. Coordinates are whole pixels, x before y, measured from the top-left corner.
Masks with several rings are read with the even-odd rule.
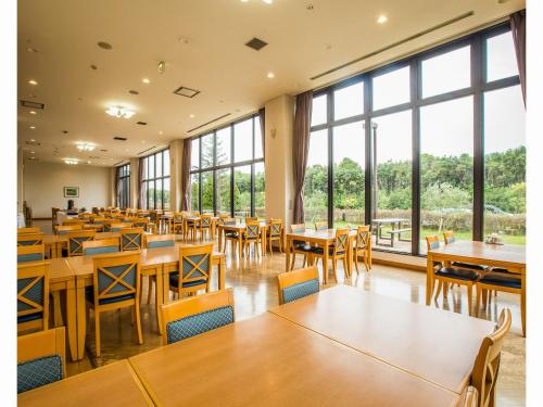
[[[265,217],[258,115],[193,138],[190,166],[192,209]]]

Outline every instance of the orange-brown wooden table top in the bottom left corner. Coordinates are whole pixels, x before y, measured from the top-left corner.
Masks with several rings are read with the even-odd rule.
[[[17,395],[18,406],[153,406],[127,360]]]

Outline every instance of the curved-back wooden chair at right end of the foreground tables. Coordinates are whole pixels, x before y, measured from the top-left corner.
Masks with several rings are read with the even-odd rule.
[[[500,357],[505,335],[510,329],[510,310],[505,308],[500,314],[495,331],[482,340],[481,347],[479,348],[479,354],[471,371],[470,384],[479,393],[478,404],[480,407],[494,406]]]

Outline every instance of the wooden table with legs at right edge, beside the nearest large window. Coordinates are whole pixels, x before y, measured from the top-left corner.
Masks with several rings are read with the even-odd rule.
[[[426,267],[426,305],[430,305],[433,290],[433,262],[442,262],[445,267],[451,262],[503,267],[520,275],[520,316],[522,333],[526,335],[526,247],[516,244],[489,244],[476,241],[456,241],[439,249],[429,250]]]

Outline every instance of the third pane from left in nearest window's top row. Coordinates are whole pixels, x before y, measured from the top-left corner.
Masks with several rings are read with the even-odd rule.
[[[409,67],[376,76],[374,85],[374,111],[407,103],[411,100]]]

